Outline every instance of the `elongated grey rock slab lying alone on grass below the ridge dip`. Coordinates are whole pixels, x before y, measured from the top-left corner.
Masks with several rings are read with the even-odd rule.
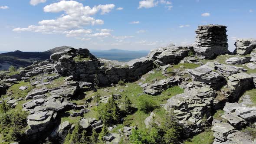
[[[174,78],[162,79],[154,84],[148,85],[144,88],[144,93],[149,95],[158,95],[167,88],[171,88],[174,85],[178,85],[178,81]]]

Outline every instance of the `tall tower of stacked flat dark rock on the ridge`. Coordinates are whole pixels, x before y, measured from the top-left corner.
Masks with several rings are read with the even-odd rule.
[[[212,59],[215,56],[228,52],[226,26],[205,25],[198,26],[194,51],[204,59]]]

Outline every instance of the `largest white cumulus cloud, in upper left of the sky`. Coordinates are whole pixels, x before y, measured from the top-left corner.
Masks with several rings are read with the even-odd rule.
[[[30,25],[26,28],[15,28],[14,32],[39,32],[39,33],[66,33],[72,29],[81,29],[86,25],[102,25],[103,20],[92,17],[96,13],[106,14],[115,7],[114,4],[98,5],[94,7],[83,6],[77,1],[62,0],[52,3],[43,8],[47,13],[58,13],[64,11],[60,17],[53,20],[42,20],[38,22],[38,26]],[[74,32],[73,32],[74,33]],[[69,35],[68,35],[69,36]],[[71,35],[72,36],[72,35]]]

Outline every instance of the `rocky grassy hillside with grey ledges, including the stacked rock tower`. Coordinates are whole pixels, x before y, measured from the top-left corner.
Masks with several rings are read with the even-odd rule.
[[[174,118],[182,128],[174,144],[256,143],[256,40],[238,39],[231,53],[226,26],[196,33],[192,46],[161,47],[130,62],[71,48],[1,72],[0,141],[169,144],[168,131],[161,142],[150,131],[151,141],[135,134]]]

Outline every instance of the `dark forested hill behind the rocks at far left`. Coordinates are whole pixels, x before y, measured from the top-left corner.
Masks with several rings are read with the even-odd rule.
[[[19,67],[26,67],[31,65],[35,61],[44,61],[49,59],[55,52],[71,48],[69,46],[61,46],[50,49],[46,52],[21,52],[16,50],[15,52],[0,52],[0,70],[6,70],[10,65]]]

